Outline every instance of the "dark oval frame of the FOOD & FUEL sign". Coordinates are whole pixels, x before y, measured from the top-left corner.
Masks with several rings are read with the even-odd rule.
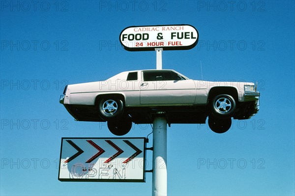
[[[151,46],[151,47],[129,47],[127,45],[125,45],[122,40],[121,40],[121,35],[124,33],[125,30],[129,29],[129,28],[160,28],[160,27],[173,27],[173,26],[188,26],[188,27],[191,27],[193,28],[196,33],[197,33],[197,38],[195,40],[195,42],[191,45],[186,45],[186,46],[161,46],[161,45],[155,45],[155,46]],[[161,33],[162,31],[159,31],[159,33]],[[120,40],[120,43],[121,45],[124,47],[125,50],[127,51],[155,51],[157,48],[162,48],[163,50],[189,50],[189,49],[192,49],[194,48],[197,44],[198,44],[198,41],[199,41],[199,32],[198,30],[192,26],[192,25],[188,25],[188,24],[177,24],[177,25],[148,25],[148,26],[130,26],[130,27],[126,27],[125,29],[123,29],[119,35],[119,40]],[[165,40],[163,40],[164,42],[166,42]]]

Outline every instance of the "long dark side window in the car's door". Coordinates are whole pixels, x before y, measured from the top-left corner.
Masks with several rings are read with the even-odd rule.
[[[185,78],[173,71],[145,71],[144,81],[183,80]]]

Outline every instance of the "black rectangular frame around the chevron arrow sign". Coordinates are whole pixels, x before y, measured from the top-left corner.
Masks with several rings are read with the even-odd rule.
[[[142,172],[143,173],[142,173],[142,178],[141,179],[61,178],[60,177],[60,172],[61,172],[61,169],[64,169],[64,168],[62,168],[62,165],[61,165],[62,164],[61,163],[61,160],[62,160],[62,147],[63,147],[63,142],[65,142],[66,140],[75,140],[75,139],[85,139],[85,140],[102,139],[102,140],[113,140],[113,141],[114,140],[134,140],[134,139],[136,139],[136,140],[143,140],[143,145],[144,146],[142,148],[142,153],[143,153],[143,168],[142,168]],[[59,176],[58,176],[58,179],[61,182],[146,182],[146,150],[147,150],[147,143],[148,143],[148,140],[147,140],[146,137],[62,137],[61,138],[61,145],[60,145]],[[76,148],[76,147],[74,147],[75,144],[71,144],[71,145],[73,146],[74,149]],[[133,147],[131,147],[132,144],[128,144],[128,145],[130,146],[130,148],[133,148]],[[89,146],[91,146],[91,145],[89,145]],[[78,151],[76,154],[78,154],[78,156],[79,156],[80,154],[83,153],[83,150],[81,150],[81,149],[78,150],[78,149],[79,149],[79,147],[76,148],[76,150]],[[72,157],[75,157],[75,155],[73,155]],[[75,158],[73,158],[73,159],[75,159]]]

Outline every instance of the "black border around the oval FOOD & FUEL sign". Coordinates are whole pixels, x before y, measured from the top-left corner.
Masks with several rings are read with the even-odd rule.
[[[134,27],[163,27],[163,26],[191,26],[197,32],[197,35],[198,35],[197,40],[193,44],[191,44],[189,46],[165,46],[165,47],[155,46],[155,47],[141,47],[141,48],[130,48],[130,47],[125,46],[121,42],[121,34],[123,33],[123,31],[125,31],[128,28],[134,28]],[[119,40],[120,40],[121,45],[124,47],[124,49],[127,50],[127,51],[131,51],[131,52],[134,52],[134,51],[155,51],[155,48],[163,48],[163,50],[189,50],[189,49],[194,48],[197,45],[197,43],[199,41],[199,32],[198,32],[198,30],[194,26],[192,26],[192,25],[186,25],[186,24],[181,24],[181,25],[130,26],[130,27],[126,27],[125,29],[123,29],[121,31],[121,33],[119,35]]]

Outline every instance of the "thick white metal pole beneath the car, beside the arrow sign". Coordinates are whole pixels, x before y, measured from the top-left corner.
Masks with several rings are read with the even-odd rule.
[[[157,115],[153,120],[152,196],[167,196],[167,120]]]

